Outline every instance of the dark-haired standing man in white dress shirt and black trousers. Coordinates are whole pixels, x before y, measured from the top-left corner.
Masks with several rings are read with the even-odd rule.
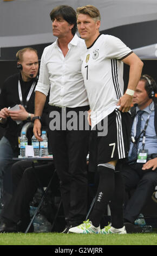
[[[40,77],[35,89],[34,133],[41,141],[40,116],[50,89],[50,143],[67,222],[63,233],[67,233],[70,227],[82,223],[87,212],[89,129],[83,128],[86,125],[83,120],[89,102],[80,58],[86,45],[75,34],[76,13],[73,8],[58,6],[51,11],[50,18],[57,40],[45,47],[41,58]]]

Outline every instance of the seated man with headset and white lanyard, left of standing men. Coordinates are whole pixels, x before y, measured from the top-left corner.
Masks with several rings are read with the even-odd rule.
[[[23,48],[16,53],[16,58],[20,72],[5,80],[0,94],[0,123],[4,127],[4,136],[0,141],[1,197],[3,176],[6,170],[10,169],[12,157],[19,155],[18,137],[22,126],[34,117],[34,88],[38,74],[37,51],[30,47]],[[18,105],[19,109],[11,111],[10,108],[15,105]]]

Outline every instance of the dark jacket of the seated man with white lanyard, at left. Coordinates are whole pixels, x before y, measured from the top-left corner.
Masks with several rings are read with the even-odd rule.
[[[35,80],[32,79],[30,82],[24,82],[21,78],[21,75],[19,76],[19,74],[15,74],[8,77],[3,84],[2,91],[0,94],[0,109],[4,107],[7,107],[7,108],[13,107],[16,104],[18,105],[21,104],[19,100],[19,94],[18,94],[18,79],[20,79],[20,82],[21,82],[23,103],[25,105],[30,87]],[[35,101],[35,92],[33,91],[26,108],[27,112],[34,113],[34,107],[35,107],[34,101]],[[46,104],[48,104],[48,102]],[[44,108],[44,113],[45,114],[48,113],[47,107]],[[4,136],[9,140],[11,147],[14,151],[18,151],[18,136],[20,136],[22,126],[25,123],[27,123],[27,121],[22,121],[21,124],[17,125],[16,121],[12,120],[9,117],[6,123],[2,125],[2,127],[4,127]]]

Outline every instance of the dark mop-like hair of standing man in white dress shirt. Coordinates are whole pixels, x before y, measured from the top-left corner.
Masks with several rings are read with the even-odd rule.
[[[76,11],[68,5],[59,5],[55,7],[50,13],[51,20],[54,20],[58,17],[62,17],[70,25],[74,24],[74,27],[71,29],[71,33],[75,35],[77,31]]]

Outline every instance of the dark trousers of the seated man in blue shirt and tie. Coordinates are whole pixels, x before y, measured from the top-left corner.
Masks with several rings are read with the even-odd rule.
[[[153,171],[150,169],[147,171],[142,170],[142,165],[140,163],[133,165],[126,163],[121,169],[126,192],[135,190],[124,210],[124,218],[132,223],[142,213],[143,206],[152,197],[154,188],[157,185],[157,169]]]

